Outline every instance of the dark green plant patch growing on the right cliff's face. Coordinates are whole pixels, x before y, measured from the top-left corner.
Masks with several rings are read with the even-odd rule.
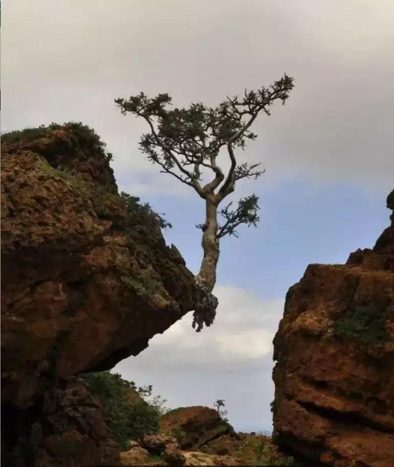
[[[382,344],[387,338],[383,302],[356,306],[334,324],[334,333],[342,339],[359,340],[364,344]]]

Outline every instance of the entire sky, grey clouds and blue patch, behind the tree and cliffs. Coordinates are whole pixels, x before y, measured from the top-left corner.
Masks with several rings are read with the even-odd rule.
[[[3,0],[1,131],[82,121],[114,154],[119,189],[165,213],[196,273],[204,206],[138,151],[144,123],[117,97],[168,92],[216,106],[284,72],[285,106],[259,116],[239,160],[259,161],[260,223],[224,238],[211,328],[191,313],[115,370],[175,408],[225,399],[240,431],[271,430],[272,339],[308,263],[343,263],[388,225],[393,188],[392,0]],[[235,195],[234,194],[234,195]],[[236,198],[234,198],[236,199]]]

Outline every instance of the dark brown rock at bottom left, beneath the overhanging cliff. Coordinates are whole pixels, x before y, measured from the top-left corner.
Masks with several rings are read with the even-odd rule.
[[[2,417],[12,420],[2,433],[3,448],[9,448],[2,455],[4,465],[25,465],[23,459],[32,460],[32,452],[37,466],[57,465],[56,459],[77,462],[77,467],[119,460],[118,446],[110,438],[99,402],[77,381],[46,391],[42,400],[26,410],[5,404]]]

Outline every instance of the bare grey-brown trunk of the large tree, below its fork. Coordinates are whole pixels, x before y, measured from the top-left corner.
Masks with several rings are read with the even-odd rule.
[[[217,238],[218,222],[217,222],[217,203],[212,197],[207,197],[206,203],[206,220],[202,233],[202,249],[204,257],[202,258],[200,271],[197,278],[203,285],[212,292],[216,283],[216,266],[219,259],[219,239]]]

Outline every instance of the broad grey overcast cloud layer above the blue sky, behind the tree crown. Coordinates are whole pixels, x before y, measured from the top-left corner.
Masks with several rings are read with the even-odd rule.
[[[217,105],[286,71],[296,78],[291,98],[256,121],[259,137],[245,152],[267,169],[261,184],[392,188],[390,0],[19,0],[3,8],[3,131],[82,120],[108,142],[117,177],[178,195],[175,179],[135,182],[157,168],[138,153],[143,122],[120,115],[113,99],[143,90],[169,92],[178,106]]]

